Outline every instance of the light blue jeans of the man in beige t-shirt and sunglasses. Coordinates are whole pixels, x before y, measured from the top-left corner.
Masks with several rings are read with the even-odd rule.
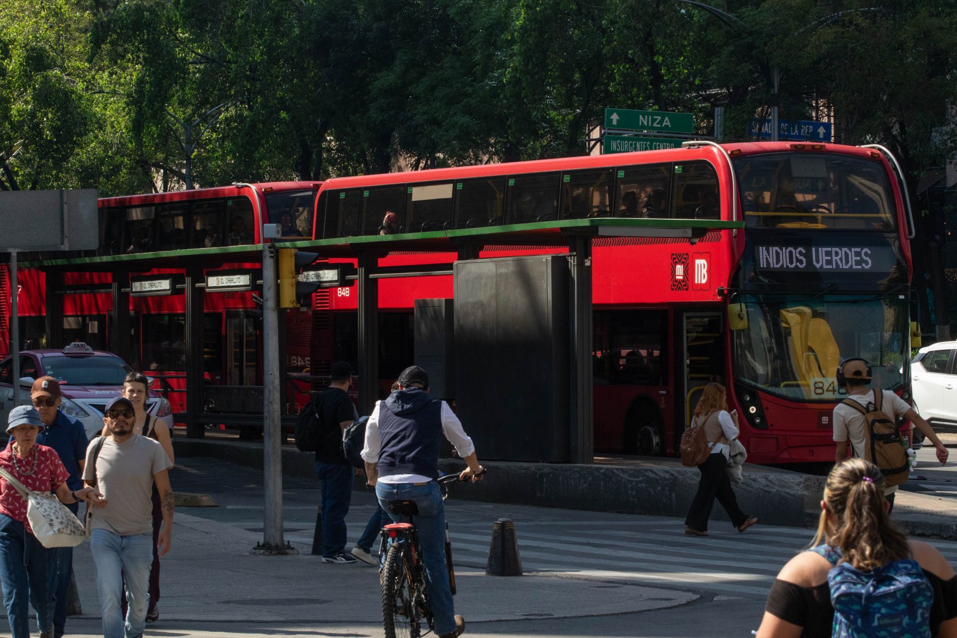
[[[120,536],[95,529],[90,534],[90,553],[97,570],[103,638],[123,638],[123,629],[126,638],[139,638],[146,627],[146,605],[149,603],[152,532]],[[128,605],[125,626],[120,608],[124,581]]]

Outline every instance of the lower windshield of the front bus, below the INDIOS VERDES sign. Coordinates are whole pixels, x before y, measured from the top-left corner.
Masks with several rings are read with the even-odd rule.
[[[737,301],[737,297],[735,299]],[[861,357],[874,387],[907,378],[906,299],[873,296],[743,296],[747,327],[732,333],[737,379],[779,397],[835,401],[837,365]]]

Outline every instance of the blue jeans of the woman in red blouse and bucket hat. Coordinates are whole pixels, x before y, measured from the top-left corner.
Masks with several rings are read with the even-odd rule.
[[[30,606],[36,611],[40,631],[53,627],[53,556],[22,522],[0,514],[0,582],[13,638],[30,638]]]

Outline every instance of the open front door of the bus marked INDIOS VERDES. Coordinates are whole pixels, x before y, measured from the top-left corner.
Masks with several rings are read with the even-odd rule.
[[[723,315],[715,312],[686,311],[680,319],[682,336],[683,387],[677,423],[687,428],[704,386],[712,381],[724,383]]]

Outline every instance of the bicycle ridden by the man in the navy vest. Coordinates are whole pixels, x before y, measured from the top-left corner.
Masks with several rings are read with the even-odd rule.
[[[484,468],[478,475],[483,473]],[[442,491],[442,500],[449,495],[448,483],[461,482],[458,474],[446,474],[435,480]],[[412,519],[418,514],[418,507],[410,500],[392,500],[389,501],[389,512]],[[456,572],[452,566],[448,520],[445,521],[445,568],[455,596]],[[418,638],[422,635],[422,621],[429,627],[428,631],[434,631],[425,564],[413,522],[389,523],[382,528],[379,582],[382,584],[382,620],[386,638]]]

